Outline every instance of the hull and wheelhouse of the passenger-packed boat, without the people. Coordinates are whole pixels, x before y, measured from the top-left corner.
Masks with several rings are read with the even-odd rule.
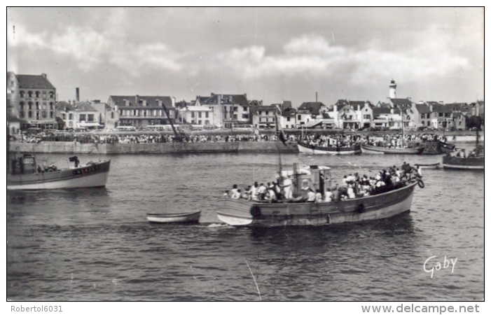
[[[354,199],[332,202],[297,202],[301,195],[296,183],[307,183],[324,196],[331,187],[329,167],[310,166],[293,172],[282,172],[290,179],[293,187],[291,200],[277,202],[248,201],[223,198],[219,202],[217,216],[228,225],[251,225],[275,227],[285,225],[331,225],[389,218],[410,211],[416,185],[424,187],[422,181],[406,181],[400,187],[377,195],[366,195]],[[324,180],[325,179],[325,180]]]

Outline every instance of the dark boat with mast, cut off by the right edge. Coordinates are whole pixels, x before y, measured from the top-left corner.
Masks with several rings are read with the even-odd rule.
[[[479,144],[479,133],[476,132],[476,148],[466,155],[465,151],[448,153],[443,156],[444,169],[484,169],[484,146]]]

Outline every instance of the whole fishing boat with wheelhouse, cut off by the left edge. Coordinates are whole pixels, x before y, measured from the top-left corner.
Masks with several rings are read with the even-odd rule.
[[[76,156],[69,158],[75,167],[58,169],[50,165],[41,167],[30,153],[13,155],[9,160],[7,190],[45,190],[90,188],[106,186],[111,160],[79,165]]]

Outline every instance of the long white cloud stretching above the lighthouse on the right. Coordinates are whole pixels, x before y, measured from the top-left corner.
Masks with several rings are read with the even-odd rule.
[[[439,35],[429,34],[419,45],[406,45],[406,49],[399,51],[391,50],[390,45],[368,49],[343,47],[332,45],[323,36],[305,35],[291,38],[277,55],[268,55],[264,46],[253,45],[222,52],[215,63],[245,78],[343,76],[357,85],[393,76],[408,81],[441,77],[469,66],[468,59],[452,50],[448,38]]]

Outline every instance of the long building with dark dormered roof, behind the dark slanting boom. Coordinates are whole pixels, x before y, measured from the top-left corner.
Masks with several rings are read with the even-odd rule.
[[[119,113],[119,125],[144,128],[176,123],[176,99],[168,96],[111,95],[107,104]],[[169,112],[167,118],[165,109]]]

